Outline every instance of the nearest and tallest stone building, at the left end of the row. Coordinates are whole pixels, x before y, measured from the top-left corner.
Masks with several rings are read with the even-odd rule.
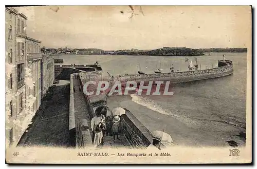
[[[17,144],[24,133],[26,116],[25,38],[27,17],[11,7],[6,8],[6,140]]]

